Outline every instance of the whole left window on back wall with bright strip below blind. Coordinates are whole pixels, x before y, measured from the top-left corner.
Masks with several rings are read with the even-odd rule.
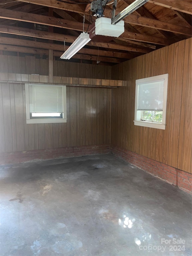
[[[49,84],[25,84],[26,122],[67,122],[66,86]]]

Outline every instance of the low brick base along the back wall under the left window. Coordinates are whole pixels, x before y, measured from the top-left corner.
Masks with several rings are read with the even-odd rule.
[[[110,153],[110,145],[107,144],[8,152],[0,153],[0,165],[107,153]]]

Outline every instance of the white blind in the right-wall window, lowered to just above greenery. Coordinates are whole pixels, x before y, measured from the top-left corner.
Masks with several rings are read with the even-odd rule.
[[[138,83],[137,110],[163,110],[164,79]]]

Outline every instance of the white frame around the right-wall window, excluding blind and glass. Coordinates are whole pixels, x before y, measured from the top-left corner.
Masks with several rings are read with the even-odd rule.
[[[163,117],[162,123],[159,122],[150,122],[150,121],[141,121],[141,112],[142,110],[137,110],[137,103],[138,103],[138,84],[139,83],[146,83],[152,82],[156,80],[164,79],[164,94],[163,94]],[[146,77],[142,79],[136,80],[135,86],[135,119],[134,125],[139,125],[143,127],[150,127],[150,128],[157,128],[165,130],[166,127],[166,110],[167,110],[167,87],[168,87],[168,74],[158,75],[154,77]]]

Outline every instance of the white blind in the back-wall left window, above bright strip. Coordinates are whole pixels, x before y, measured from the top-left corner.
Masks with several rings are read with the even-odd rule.
[[[63,113],[63,87],[29,84],[30,113]]]

